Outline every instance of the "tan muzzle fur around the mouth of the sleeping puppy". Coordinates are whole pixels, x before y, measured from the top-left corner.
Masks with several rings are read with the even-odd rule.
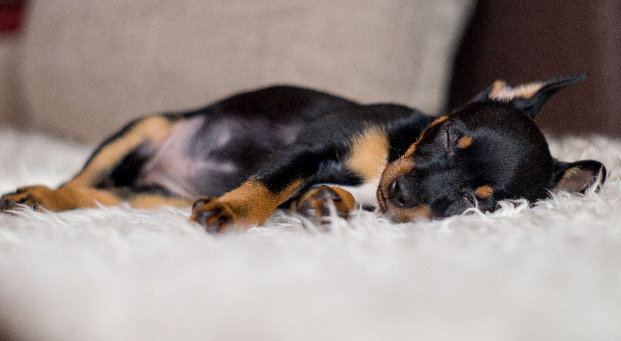
[[[394,222],[411,222],[419,219],[431,219],[433,216],[431,207],[425,204],[417,204],[412,207],[398,207],[391,200],[396,194],[391,193],[391,186],[399,176],[407,175],[414,167],[414,160],[411,157],[401,157],[392,161],[382,173],[378,185],[378,204],[380,211]],[[397,202],[398,203],[398,202]]]

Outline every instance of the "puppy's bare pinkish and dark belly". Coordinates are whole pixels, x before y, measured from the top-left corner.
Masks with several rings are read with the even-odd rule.
[[[188,199],[221,196],[247,180],[299,128],[266,120],[197,116],[181,122],[142,166],[135,185],[160,186]]]

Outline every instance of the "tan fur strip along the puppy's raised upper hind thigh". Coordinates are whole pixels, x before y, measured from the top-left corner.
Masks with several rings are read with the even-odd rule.
[[[111,170],[141,143],[149,140],[156,145],[163,142],[173,130],[174,122],[161,116],[140,120],[132,129],[101,148],[88,165],[70,181],[73,186],[93,186],[97,176]]]

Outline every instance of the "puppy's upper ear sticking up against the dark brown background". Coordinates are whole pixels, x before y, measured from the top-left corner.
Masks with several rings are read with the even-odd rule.
[[[473,101],[510,102],[523,109],[528,117],[535,119],[550,96],[569,84],[586,80],[586,73],[566,77],[535,81],[517,86],[507,85],[504,81],[495,81],[489,88],[478,94]]]

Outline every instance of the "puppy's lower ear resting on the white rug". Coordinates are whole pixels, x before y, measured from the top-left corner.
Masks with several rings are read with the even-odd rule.
[[[563,162],[553,159],[553,181],[556,189],[584,193],[595,185],[597,188],[606,180],[606,168],[593,160]]]

